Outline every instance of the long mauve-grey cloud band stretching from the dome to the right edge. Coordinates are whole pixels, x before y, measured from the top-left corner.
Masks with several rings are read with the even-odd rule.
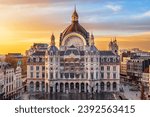
[[[150,30],[150,19],[144,20],[116,20],[106,22],[95,22],[95,23],[83,23],[89,30],[97,31],[112,31],[122,33],[135,33]]]

